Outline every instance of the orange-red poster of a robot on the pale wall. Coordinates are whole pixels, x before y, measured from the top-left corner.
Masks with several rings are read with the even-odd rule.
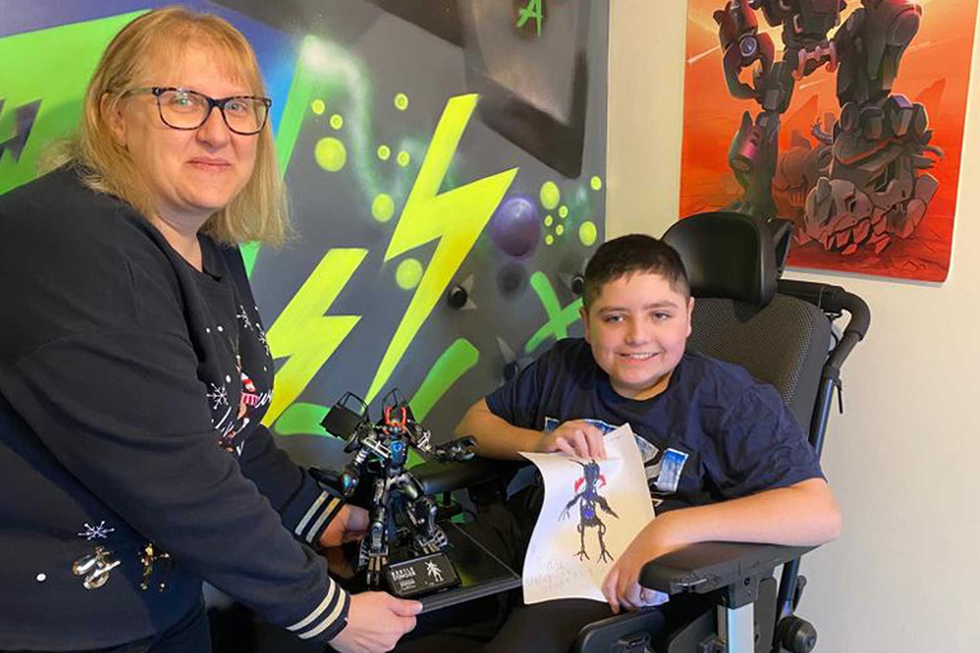
[[[976,0],[689,0],[681,215],[794,222],[789,263],[943,281]]]

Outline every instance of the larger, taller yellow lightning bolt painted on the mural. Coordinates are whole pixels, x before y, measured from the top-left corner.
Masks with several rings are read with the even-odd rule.
[[[388,261],[442,238],[374,374],[368,390],[368,402],[377,396],[391,377],[422,322],[446,290],[517,174],[514,167],[439,194],[439,187],[476,108],[477,99],[476,94],[461,95],[450,98],[446,103],[418,170],[416,183],[405,203],[405,210],[385,252],[384,259]]]

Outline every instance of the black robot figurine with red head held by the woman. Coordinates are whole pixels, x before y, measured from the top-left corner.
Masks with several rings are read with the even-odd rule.
[[[410,450],[440,462],[469,460],[475,439],[433,445],[431,434],[397,390],[385,396],[383,416],[376,422],[368,417],[365,402],[347,393],[322,426],[345,438],[344,451],[353,454],[339,472],[316,470],[315,476],[347,500],[357,493],[368,509],[368,534],[357,561],[358,571],[367,571],[368,588],[380,588],[386,580],[393,593],[411,596],[458,584],[445,554],[449,540],[436,523],[438,506],[406,467]]]

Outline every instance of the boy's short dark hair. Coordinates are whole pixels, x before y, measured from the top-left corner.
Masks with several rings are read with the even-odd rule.
[[[586,310],[602,294],[603,286],[636,272],[659,274],[674,292],[684,299],[691,297],[687,272],[677,252],[653,236],[629,234],[600,245],[585,266],[582,303]]]

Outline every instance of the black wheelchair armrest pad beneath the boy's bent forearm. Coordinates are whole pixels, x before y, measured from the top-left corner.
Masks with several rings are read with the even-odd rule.
[[[755,600],[761,578],[814,548],[740,542],[691,544],[644,565],[640,584],[667,594],[707,594],[727,587],[730,601],[744,603]]]

